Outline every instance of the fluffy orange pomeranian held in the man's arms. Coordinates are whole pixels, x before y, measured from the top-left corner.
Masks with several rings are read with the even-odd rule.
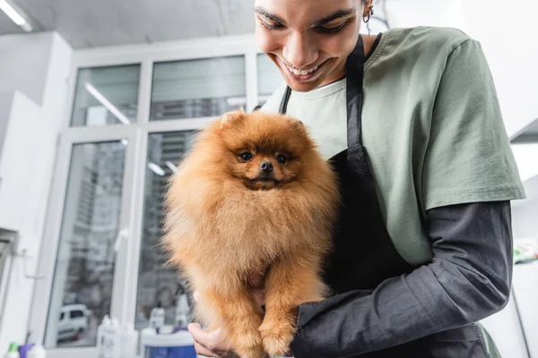
[[[297,306],[324,298],[338,202],[331,166],[296,119],[232,112],[197,137],[171,179],[164,244],[200,294],[197,317],[239,356],[285,354]],[[265,315],[256,273],[266,273]]]

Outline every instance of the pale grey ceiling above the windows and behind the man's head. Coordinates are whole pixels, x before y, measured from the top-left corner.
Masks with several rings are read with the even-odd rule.
[[[330,1],[330,0],[327,0]],[[9,0],[38,31],[74,48],[239,35],[254,31],[253,0]],[[449,0],[386,0],[391,26],[436,24]],[[377,1],[383,16],[383,1]],[[22,33],[0,12],[0,35]]]

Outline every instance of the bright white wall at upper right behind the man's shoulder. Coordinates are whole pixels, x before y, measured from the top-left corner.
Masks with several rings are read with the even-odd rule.
[[[538,1],[453,0],[440,25],[478,39],[512,137],[538,118]]]

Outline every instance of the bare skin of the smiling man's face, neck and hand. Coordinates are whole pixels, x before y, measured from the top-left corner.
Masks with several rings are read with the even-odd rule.
[[[362,17],[369,13],[372,2],[256,0],[258,47],[278,66],[292,90],[316,90],[345,76],[347,56],[357,43]],[[375,40],[373,36],[363,36],[366,54]],[[256,274],[252,294],[260,306],[265,304],[264,281],[262,274]],[[200,325],[192,323],[188,330],[195,338],[198,354],[238,358],[220,329],[206,332]]]

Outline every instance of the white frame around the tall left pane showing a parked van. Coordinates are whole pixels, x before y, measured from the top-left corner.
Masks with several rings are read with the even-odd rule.
[[[106,132],[103,132],[102,129],[99,131],[99,128],[97,127],[91,128],[90,131],[68,131],[62,136],[58,148],[55,180],[50,195],[51,200],[48,209],[48,220],[39,258],[38,272],[45,278],[36,281],[34,300],[31,308],[30,333],[32,340],[42,342],[45,337],[48,306],[56,268],[56,252],[64,217],[65,197],[69,181],[69,166],[71,163],[73,146],[82,143],[120,141],[124,139],[128,142],[126,146],[120,217],[118,223],[118,227],[121,230],[124,227],[132,226],[133,217],[130,208],[132,206],[133,195],[131,193],[133,192],[136,183],[131,178],[135,176],[136,170],[135,149],[137,137],[137,128],[134,125],[109,126]],[[128,243],[129,241],[126,240],[124,242]],[[127,272],[127,262],[129,261],[127,258],[128,246],[129,245],[122,243],[120,250],[117,251],[115,260],[114,285],[110,313],[119,320],[125,320],[123,317],[122,301],[127,294],[126,277],[129,275],[129,272]],[[70,351],[70,354],[74,354],[75,352],[78,354],[81,349],[82,348],[58,348],[58,350],[65,353]]]

